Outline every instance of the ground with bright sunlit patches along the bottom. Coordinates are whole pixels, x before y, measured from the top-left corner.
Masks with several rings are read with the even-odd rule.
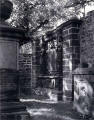
[[[30,99],[23,101],[32,120],[94,120],[83,118],[74,109],[72,103],[52,102]]]

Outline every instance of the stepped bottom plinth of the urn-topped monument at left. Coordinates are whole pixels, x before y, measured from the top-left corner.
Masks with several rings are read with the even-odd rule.
[[[4,102],[0,105],[0,120],[30,120],[30,115],[23,103]]]

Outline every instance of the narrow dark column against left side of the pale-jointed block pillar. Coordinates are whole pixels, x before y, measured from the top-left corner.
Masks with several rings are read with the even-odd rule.
[[[62,38],[62,30],[59,29],[57,31],[57,83],[58,83],[58,100],[62,100],[63,96],[63,72],[62,72],[62,57],[63,57],[63,38]]]

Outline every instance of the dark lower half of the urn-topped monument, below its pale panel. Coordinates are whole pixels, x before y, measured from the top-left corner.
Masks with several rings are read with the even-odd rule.
[[[0,120],[29,120],[29,117],[26,106],[19,101],[19,72],[0,69]]]

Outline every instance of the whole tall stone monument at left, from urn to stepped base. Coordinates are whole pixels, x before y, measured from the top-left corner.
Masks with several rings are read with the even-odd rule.
[[[12,9],[10,1],[0,0],[0,120],[28,120],[29,114],[18,96],[17,62],[24,31],[6,22]]]

